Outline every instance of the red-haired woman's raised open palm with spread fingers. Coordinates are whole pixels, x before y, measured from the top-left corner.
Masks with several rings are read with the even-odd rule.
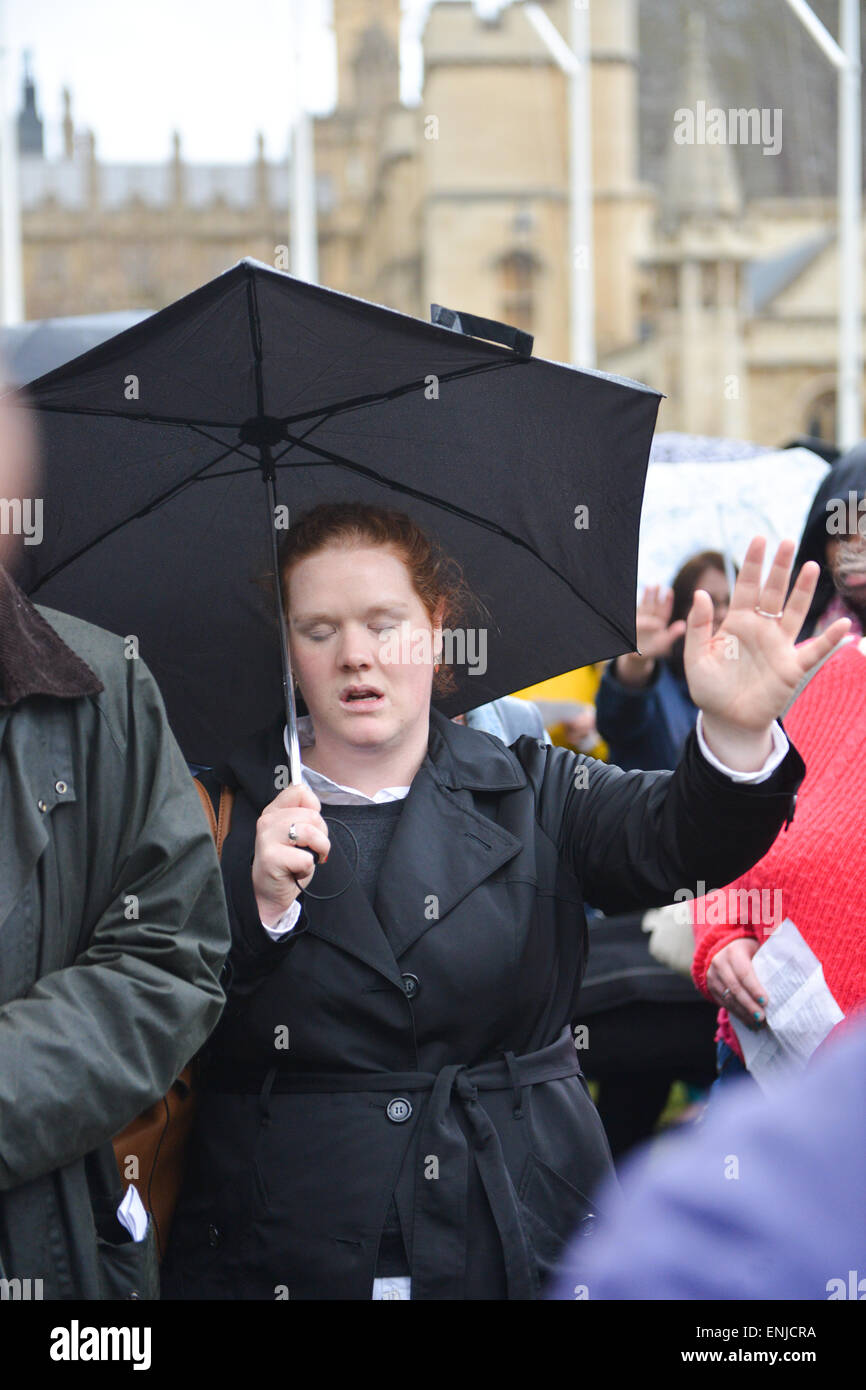
[[[769,735],[802,677],[851,627],[848,619],[837,619],[820,637],[796,646],[820,566],[813,560],[803,564],[785,602],[794,541],[781,542],[762,585],[765,549],[763,537],[749,542],[731,606],[716,632],[712,599],[703,589],[695,591],[688,614],[683,663],[691,696],[703,710],[710,746],[710,723],[723,737],[740,734],[753,741]]]

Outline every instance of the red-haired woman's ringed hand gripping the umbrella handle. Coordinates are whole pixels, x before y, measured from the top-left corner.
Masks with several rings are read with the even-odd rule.
[[[314,851],[324,863],[331,852],[321,802],[304,783],[286,787],[256,823],[253,892],[259,916],[270,927],[292,906],[316,872]],[[289,830],[295,830],[295,838]]]

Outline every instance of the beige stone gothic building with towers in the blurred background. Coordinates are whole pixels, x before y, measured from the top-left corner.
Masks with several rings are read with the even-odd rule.
[[[545,4],[562,32],[567,3]],[[771,152],[674,138],[674,108],[720,108],[730,86],[699,17],[678,25],[674,58],[660,0],[603,0],[589,14],[599,367],[663,391],[660,428],[831,438],[831,183],[767,193],[758,174]],[[400,0],[334,0],[334,26],[336,106],[314,122],[320,281],[424,318],[432,302],[499,318],[566,361],[567,86],[523,6],[485,19],[470,0],[436,0],[416,106],[400,101]],[[646,74],[657,88],[659,72],[651,110]],[[68,92],[64,107],[63,156],[47,160],[25,75],[28,318],[158,309],[242,256],[275,263],[289,170],[260,136],[246,165],[189,164],[179,135],[163,164],[104,164],[75,129]]]

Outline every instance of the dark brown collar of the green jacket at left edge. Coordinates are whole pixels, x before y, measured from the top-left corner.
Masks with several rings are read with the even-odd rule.
[[[104,689],[0,564],[0,709],[29,695],[79,699]]]

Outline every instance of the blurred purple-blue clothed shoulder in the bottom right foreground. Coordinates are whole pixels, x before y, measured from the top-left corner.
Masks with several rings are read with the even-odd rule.
[[[621,1194],[599,1193],[612,1219],[573,1241],[550,1297],[862,1300],[865,1150],[866,1023],[841,1023],[776,1094],[733,1087],[632,1155]]]

